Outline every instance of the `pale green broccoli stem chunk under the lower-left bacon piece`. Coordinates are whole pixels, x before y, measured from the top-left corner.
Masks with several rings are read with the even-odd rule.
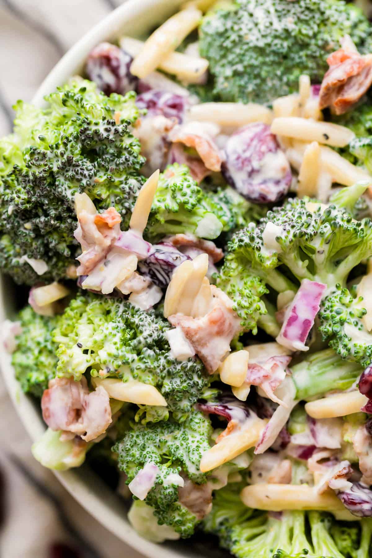
[[[32,445],[32,455],[36,461],[48,469],[66,471],[73,467],[80,467],[84,463],[89,444],[83,441],[79,444],[74,440],[62,442],[61,434],[60,430],[47,429],[40,440]]]

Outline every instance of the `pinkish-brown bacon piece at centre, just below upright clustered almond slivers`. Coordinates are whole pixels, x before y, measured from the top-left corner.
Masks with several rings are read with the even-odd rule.
[[[240,320],[232,301],[220,288],[211,285],[211,292],[211,310],[202,318],[173,314],[168,320],[181,327],[207,371],[213,374],[230,352],[231,340],[240,331]]]

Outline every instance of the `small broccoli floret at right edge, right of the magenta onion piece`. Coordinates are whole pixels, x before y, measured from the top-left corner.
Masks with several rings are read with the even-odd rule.
[[[364,368],[372,362],[372,335],[361,320],[365,314],[363,297],[352,296],[341,285],[322,300],[319,311],[323,340],[342,358],[356,360]]]

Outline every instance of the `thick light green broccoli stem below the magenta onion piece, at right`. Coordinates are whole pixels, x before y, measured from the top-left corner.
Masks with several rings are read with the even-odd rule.
[[[333,389],[347,389],[360,376],[356,362],[342,360],[333,349],[309,355],[292,367],[296,399],[310,399]]]

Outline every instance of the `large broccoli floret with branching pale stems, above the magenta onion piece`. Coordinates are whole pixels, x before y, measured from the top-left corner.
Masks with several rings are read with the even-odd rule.
[[[233,235],[217,285],[233,300],[243,327],[255,333],[266,313],[267,286],[276,293],[295,292],[296,280],[304,278],[330,288],[345,286],[350,271],[371,251],[369,219],[359,222],[335,205],[289,199],[258,225],[250,223]]]

